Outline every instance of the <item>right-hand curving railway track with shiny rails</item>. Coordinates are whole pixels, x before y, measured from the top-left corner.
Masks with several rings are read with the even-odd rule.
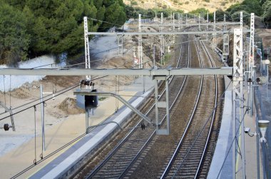
[[[200,49],[197,42],[195,42],[195,47],[198,51],[201,66],[208,66],[208,61],[214,66],[213,59],[205,47],[203,46]],[[209,58],[208,61],[203,60],[203,49]],[[217,106],[217,101],[217,76],[208,76],[207,78],[201,76],[198,98],[193,113],[161,178],[197,178],[210,140],[210,133],[215,120],[213,108]]]

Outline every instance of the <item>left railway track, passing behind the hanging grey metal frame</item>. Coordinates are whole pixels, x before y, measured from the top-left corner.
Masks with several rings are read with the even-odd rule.
[[[182,48],[180,48],[180,54],[182,54],[181,51]],[[182,65],[184,64],[185,63],[182,62]],[[189,63],[186,63],[185,65],[185,67],[187,67],[189,66]],[[183,67],[180,63],[180,55],[176,66]],[[183,82],[180,83],[180,78],[176,80],[173,76],[170,77],[170,110],[172,110],[173,104],[175,103],[176,99],[178,99],[178,96],[182,91],[182,88],[185,84],[185,79],[186,76],[183,76]],[[163,98],[165,98],[164,92],[162,92],[160,100],[164,100]],[[146,115],[148,116],[148,118],[153,119],[154,122],[154,104],[146,113]],[[160,112],[159,117],[164,118],[165,111]],[[100,164],[98,164],[96,168],[94,168],[91,173],[88,173],[88,175],[86,175],[85,177],[121,178],[155,136],[155,126],[147,126],[145,130],[142,131],[140,128],[138,128],[138,126],[140,126],[140,123],[142,123],[142,121],[139,121],[133,131],[128,133],[126,138],[124,138],[121,143],[119,143],[116,148],[114,148],[111,153],[108,154],[106,159],[103,160]]]

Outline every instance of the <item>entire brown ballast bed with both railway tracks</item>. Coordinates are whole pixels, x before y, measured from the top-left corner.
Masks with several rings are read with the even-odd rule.
[[[183,41],[188,41],[188,37],[185,37]],[[178,67],[190,65],[197,67],[195,62],[189,64],[180,61],[180,58],[190,58],[190,51],[192,51],[190,44],[192,43],[182,44],[183,48],[180,48],[178,57]],[[198,58],[205,56],[205,61],[200,62],[201,66],[210,66],[210,64],[214,66],[204,44],[202,42],[200,44],[195,44],[194,48],[197,48],[199,52]],[[188,51],[188,53],[181,53],[182,51]],[[206,61],[206,58],[208,61]],[[213,121],[219,121],[219,114],[212,114],[212,110],[216,106],[215,101],[218,98],[218,80],[215,80],[216,76],[206,78],[201,76],[200,78],[194,76],[170,77],[170,135],[155,135],[155,126],[147,126],[142,131],[139,127],[142,121],[139,121],[134,130],[130,131],[103,161],[91,169],[83,169],[81,175],[76,178],[197,178],[197,176],[206,178],[212,158],[212,148],[209,147],[208,143],[215,143],[216,140],[216,133],[211,133],[212,125]],[[190,83],[185,83],[185,80],[190,81]],[[202,89],[199,92],[195,86],[200,83]],[[184,88],[190,94],[183,93]],[[197,93],[198,97],[195,95]],[[217,96],[213,96],[213,93],[216,93]],[[182,103],[178,96],[182,96],[184,101],[189,100],[190,103]],[[163,98],[165,97],[162,92],[160,99]],[[198,101],[198,104],[195,105],[196,107],[192,107],[196,101]],[[152,105],[153,107],[154,105]],[[146,115],[153,119],[154,123],[155,112],[152,108],[148,110]],[[183,111],[179,110],[180,108],[184,109],[185,115]],[[194,110],[189,110],[191,108],[194,108]],[[164,118],[165,111],[159,115],[159,118]],[[190,120],[185,121],[185,118],[189,118],[188,116],[190,116]],[[185,129],[183,126],[188,127]],[[215,126],[218,125],[215,124]],[[171,143],[174,144],[163,143],[165,138],[167,140],[169,138],[169,140],[172,140]],[[193,140],[195,138],[197,140]],[[180,142],[176,143],[176,140],[180,140]],[[202,143],[202,141],[205,142]],[[174,156],[169,157],[169,154]]]

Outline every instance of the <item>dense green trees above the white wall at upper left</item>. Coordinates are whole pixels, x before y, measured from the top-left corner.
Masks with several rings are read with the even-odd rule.
[[[83,16],[90,18],[88,31],[104,31],[126,21],[123,0],[0,0],[0,4],[0,63],[81,53]]]

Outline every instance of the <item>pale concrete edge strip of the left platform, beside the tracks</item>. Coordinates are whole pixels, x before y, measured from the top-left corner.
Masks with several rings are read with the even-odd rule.
[[[144,101],[145,97],[149,96],[151,91],[147,91],[146,93],[138,92],[136,96],[142,97],[133,97],[129,100],[129,102],[137,108]],[[128,117],[131,116],[133,111],[130,108],[126,108],[123,106],[115,115],[108,118],[105,123],[114,121],[116,123],[123,123]],[[105,126],[99,126],[95,128],[91,133],[88,133],[84,138],[78,141],[78,143],[74,144],[71,148],[68,148],[64,153],[58,156],[58,158],[52,160],[48,165],[44,168],[41,168],[34,175],[31,175],[30,178],[65,178],[66,173],[73,173],[73,170],[76,169],[76,165],[81,163],[82,160],[91,153],[91,151],[95,150],[99,147],[101,143],[104,142],[110,135],[112,135],[113,131],[118,128],[116,123],[106,124]]]

